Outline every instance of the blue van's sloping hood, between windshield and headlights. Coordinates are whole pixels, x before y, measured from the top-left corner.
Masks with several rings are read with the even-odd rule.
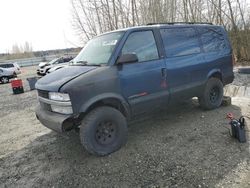
[[[95,66],[68,66],[42,77],[35,87],[38,90],[57,92],[65,83],[96,68]]]

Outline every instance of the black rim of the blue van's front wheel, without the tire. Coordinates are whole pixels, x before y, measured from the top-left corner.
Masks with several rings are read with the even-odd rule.
[[[98,144],[109,145],[116,139],[117,126],[112,121],[102,121],[98,124],[95,139]]]

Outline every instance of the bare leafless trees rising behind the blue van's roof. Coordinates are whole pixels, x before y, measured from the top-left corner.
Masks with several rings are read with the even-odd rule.
[[[238,61],[250,60],[247,0],[71,0],[73,27],[85,43],[130,26],[163,22],[209,22],[228,31]]]

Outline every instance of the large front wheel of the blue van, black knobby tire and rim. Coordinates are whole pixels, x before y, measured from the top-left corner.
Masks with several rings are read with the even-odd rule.
[[[80,140],[91,154],[104,156],[120,149],[127,141],[127,122],[115,108],[103,106],[89,112],[80,126]]]

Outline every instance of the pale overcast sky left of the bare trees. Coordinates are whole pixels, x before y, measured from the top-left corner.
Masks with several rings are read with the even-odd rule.
[[[79,45],[71,19],[70,0],[1,0],[0,53],[25,41],[33,50]]]

